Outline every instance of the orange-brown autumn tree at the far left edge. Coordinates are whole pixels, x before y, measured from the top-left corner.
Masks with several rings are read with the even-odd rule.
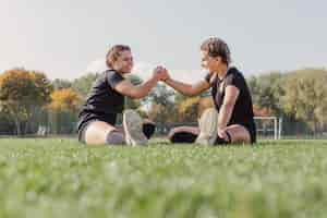
[[[46,75],[37,71],[13,69],[0,75],[1,109],[13,119],[17,135],[25,134],[36,109],[49,102],[51,90]]]

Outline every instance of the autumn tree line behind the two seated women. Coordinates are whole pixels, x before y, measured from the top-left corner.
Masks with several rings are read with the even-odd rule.
[[[97,77],[88,73],[74,81],[50,81],[45,73],[12,69],[0,73],[0,134],[32,134],[46,126],[52,134],[75,131],[78,110]],[[136,75],[129,76],[142,83]],[[301,69],[268,72],[246,78],[255,116],[283,118],[284,134],[318,134],[327,129],[327,71]],[[209,92],[186,97],[158,84],[144,99],[126,99],[125,108],[136,109],[157,123],[196,122],[213,107]]]

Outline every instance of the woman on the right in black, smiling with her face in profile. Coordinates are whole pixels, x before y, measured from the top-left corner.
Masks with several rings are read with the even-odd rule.
[[[213,123],[216,126],[214,141],[208,138],[209,144],[228,143],[255,143],[256,130],[254,123],[252,97],[242,73],[230,66],[230,50],[220,38],[209,38],[201,46],[202,66],[208,70],[204,80],[196,84],[185,84],[174,81],[168,76],[166,84],[178,92],[194,96],[211,88],[215,102],[215,112],[207,112],[215,118],[199,128],[207,130]],[[167,70],[166,70],[166,73]],[[199,140],[202,131],[199,128],[180,126],[173,129],[169,138],[173,143],[203,142]]]

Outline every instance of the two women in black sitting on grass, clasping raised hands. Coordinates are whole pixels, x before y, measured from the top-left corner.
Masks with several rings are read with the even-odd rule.
[[[208,71],[204,80],[185,84],[171,78],[168,71],[158,66],[153,77],[134,86],[124,78],[133,66],[128,46],[114,46],[107,55],[110,70],[95,82],[80,113],[78,140],[89,145],[144,145],[155,131],[155,124],[144,122],[133,110],[123,112],[123,130],[114,126],[117,114],[122,113],[124,96],[143,98],[162,81],[175,90],[194,96],[211,89],[215,108],[204,111],[198,128],[180,126],[171,130],[172,143],[219,145],[256,142],[252,98],[242,73],[230,66],[227,44],[209,38],[201,46],[202,66]]]

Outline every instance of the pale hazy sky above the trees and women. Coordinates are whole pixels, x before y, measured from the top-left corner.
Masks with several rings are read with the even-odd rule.
[[[210,36],[228,43],[245,75],[326,68],[326,9],[324,0],[1,0],[0,72],[24,66],[72,80],[102,69],[109,47],[126,44],[142,77],[164,64],[195,81]]]

